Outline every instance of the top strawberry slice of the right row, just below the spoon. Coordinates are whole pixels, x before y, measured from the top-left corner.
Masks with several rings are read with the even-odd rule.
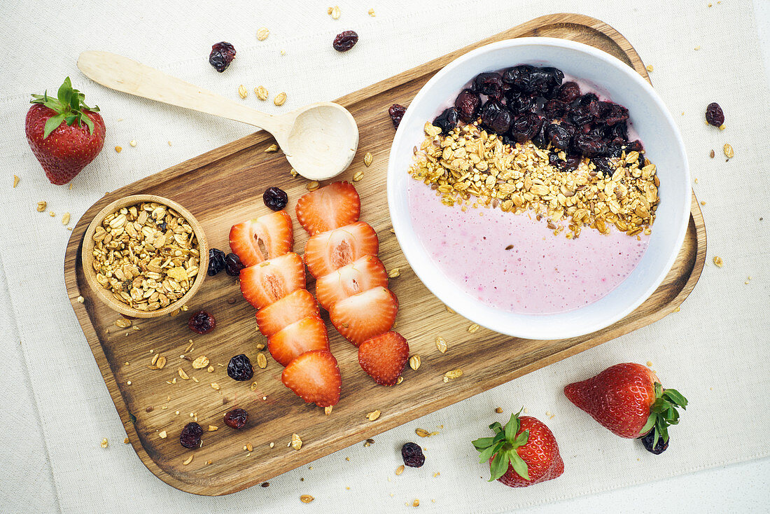
[[[349,182],[335,182],[306,193],[296,202],[296,219],[312,236],[356,223],[361,200]]]

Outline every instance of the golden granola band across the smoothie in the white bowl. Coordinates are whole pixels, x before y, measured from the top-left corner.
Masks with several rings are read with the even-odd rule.
[[[611,160],[611,176],[584,158],[577,169],[558,170],[549,164],[549,150],[531,141],[509,145],[477,123],[460,126],[446,136],[425,124],[426,138],[415,147],[409,173],[437,190],[448,206],[500,207],[547,216],[554,235],[580,236],[583,227],[608,233],[609,226],[635,236],[651,232],[660,199],[655,165],[637,152]],[[558,153],[561,160],[565,156]],[[474,197],[474,198],[471,198]]]

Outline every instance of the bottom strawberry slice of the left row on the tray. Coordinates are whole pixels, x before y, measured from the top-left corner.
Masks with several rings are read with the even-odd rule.
[[[307,403],[330,407],[340,401],[342,377],[330,351],[310,350],[294,358],[283,369],[281,381]]]

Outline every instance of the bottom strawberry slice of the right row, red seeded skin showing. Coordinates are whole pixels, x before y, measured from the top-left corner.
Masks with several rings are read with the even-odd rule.
[[[381,385],[396,385],[409,360],[409,344],[398,332],[385,332],[358,347],[358,364]]]

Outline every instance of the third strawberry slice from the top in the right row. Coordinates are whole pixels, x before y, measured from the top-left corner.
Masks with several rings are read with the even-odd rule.
[[[364,255],[317,279],[316,297],[321,307],[328,311],[336,302],[373,287],[387,287],[387,271],[380,259]]]

